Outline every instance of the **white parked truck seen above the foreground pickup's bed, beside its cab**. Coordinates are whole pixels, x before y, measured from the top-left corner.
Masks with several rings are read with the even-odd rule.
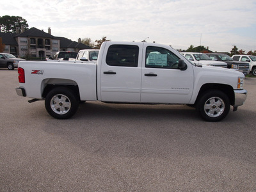
[[[96,63],[98,60],[99,49],[82,49],[78,52],[77,61],[92,61]]]

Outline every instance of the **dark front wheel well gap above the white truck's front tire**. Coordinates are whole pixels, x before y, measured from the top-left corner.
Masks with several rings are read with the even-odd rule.
[[[230,100],[230,104],[232,106],[234,106],[235,95],[234,95],[234,89],[232,88],[232,86],[230,86],[228,84],[218,84],[218,83],[207,83],[207,84],[204,84],[200,88],[200,91],[199,91],[198,96],[196,98],[195,104],[198,102],[200,97],[202,97],[202,95],[205,92],[209,91],[209,90],[220,90],[221,92],[225,93],[227,95],[228,99]]]

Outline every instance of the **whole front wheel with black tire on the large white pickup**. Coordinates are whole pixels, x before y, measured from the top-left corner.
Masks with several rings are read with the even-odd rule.
[[[201,95],[196,110],[204,120],[218,122],[228,115],[230,100],[219,90],[209,90]]]

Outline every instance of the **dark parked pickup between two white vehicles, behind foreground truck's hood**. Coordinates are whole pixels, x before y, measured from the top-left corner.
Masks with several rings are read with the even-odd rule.
[[[250,65],[248,62],[234,61],[227,54],[221,54],[221,53],[205,53],[205,54],[207,54],[207,56],[209,56],[209,58],[211,58],[214,61],[223,61],[227,63],[228,68],[233,68],[234,70],[243,72],[244,76],[250,73]]]

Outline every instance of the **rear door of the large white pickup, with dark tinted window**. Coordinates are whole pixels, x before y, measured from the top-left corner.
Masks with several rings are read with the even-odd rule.
[[[106,44],[102,54],[99,100],[140,102],[143,44]],[[98,89],[99,93],[99,89]]]

